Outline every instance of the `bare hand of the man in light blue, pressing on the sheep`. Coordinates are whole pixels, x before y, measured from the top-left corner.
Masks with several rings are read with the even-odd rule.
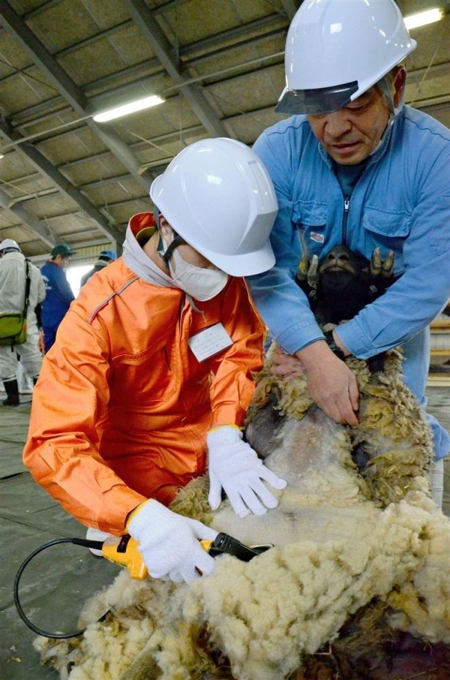
[[[358,425],[358,387],[354,374],[323,340],[296,353],[306,370],[309,394],[336,423]]]

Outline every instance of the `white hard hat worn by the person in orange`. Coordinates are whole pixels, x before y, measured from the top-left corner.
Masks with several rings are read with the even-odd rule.
[[[183,149],[152,182],[150,198],[186,243],[227,274],[250,276],[275,264],[275,190],[240,141],[202,139]]]

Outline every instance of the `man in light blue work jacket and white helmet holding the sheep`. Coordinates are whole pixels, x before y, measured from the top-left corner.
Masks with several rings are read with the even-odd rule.
[[[333,347],[366,359],[402,345],[406,383],[425,407],[428,326],[450,296],[450,135],[404,105],[402,61],[415,46],[392,0],[303,3],[287,34],[286,87],[276,106],[294,116],[254,145],[279,204],[276,265],[249,278],[282,350],[275,370],[304,370],[318,406],[351,426],[357,384]],[[294,276],[300,254],[320,258],[339,244],[368,259],[375,247],[382,257],[393,250],[399,279],[335,329],[330,347]],[[439,503],[450,437],[429,421]]]

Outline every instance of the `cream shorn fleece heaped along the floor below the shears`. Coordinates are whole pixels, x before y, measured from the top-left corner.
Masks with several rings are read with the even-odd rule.
[[[69,678],[201,677],[200,669],[213,669],[195,644],[204,625],[229,656],[234,677],[282,678],[375,596],[404,610],[394,625],[449,643],[450,553],[442,541],[449,522],[424,494],[414,494],[415,505],[375,508],[356,540],[288,544],[248,564],[221,557],[213,575],[190,589],[120,573],[107,591],[116,618],[89,626],[71,653],[78,668]],[[58,644],[66,645],[64,657],[70,643]]]

